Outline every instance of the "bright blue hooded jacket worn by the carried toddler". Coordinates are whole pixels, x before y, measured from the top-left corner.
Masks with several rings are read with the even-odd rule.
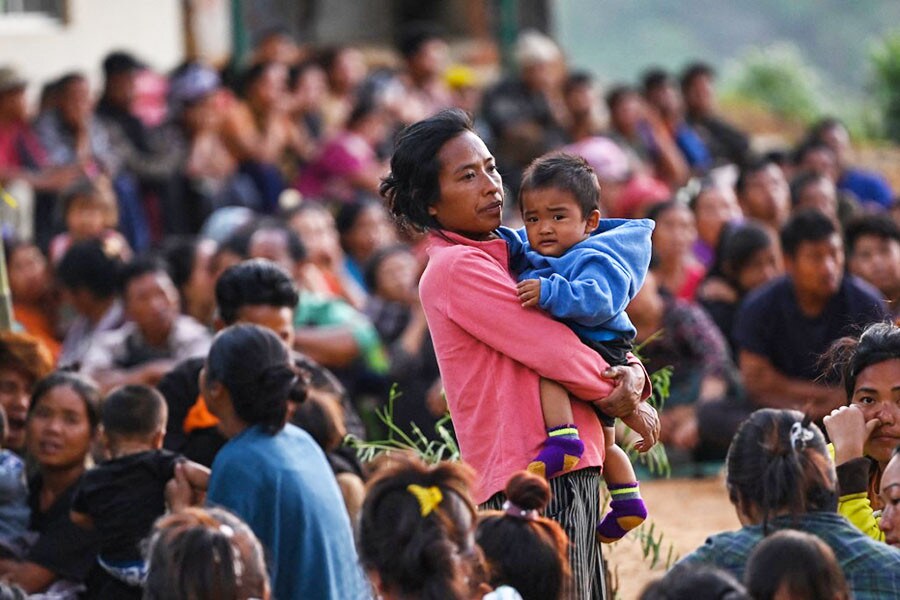
[[[586,240],[559,257],[544,256],[528,243],[525,229],[501,227],[517,279],[539,279],[540,307],[581,338],[631,341],[637,333],[625,308],[647,276],[650,219],[602,219]]]

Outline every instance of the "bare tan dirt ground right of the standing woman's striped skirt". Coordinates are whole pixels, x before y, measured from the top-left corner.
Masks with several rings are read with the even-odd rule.
[[[642,481],[641,495],[650,511],[649,520],[655,524],[654,537],[658,532],[663,534],[661,564],[651,570],[650,560],[643,557],[632,535],[604,546],[620,600],[637,598],[648,582],[665,572],[670,546],[673,556],[684,556],[710,534],[740,527],[723,477]]]

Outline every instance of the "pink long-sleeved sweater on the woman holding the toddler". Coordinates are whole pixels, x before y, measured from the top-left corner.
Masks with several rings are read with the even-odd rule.
[[[431,234],[419,287],[463,460],[477,472],[474,497],[484,502],[537,455],[546,436],[541,377],[584,400],[612,390],[608,366],[572,331],[522,308],[502,239],[475,242]],[[645,397],[650,386],[644,389]],[[591,406],[572,410],[585,452],[579,468],[603,464],[603,430]]]

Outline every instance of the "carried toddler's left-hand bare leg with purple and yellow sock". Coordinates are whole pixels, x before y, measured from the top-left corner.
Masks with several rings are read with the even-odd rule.
[[[578,438],[569,393],[555,381],[541,379],[541,411],[547,439],[528,470],[549,479],[575,468],[584,454],[584,444]]]

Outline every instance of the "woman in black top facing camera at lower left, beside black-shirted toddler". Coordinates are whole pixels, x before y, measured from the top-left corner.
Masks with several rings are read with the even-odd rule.
[[[51,586],[74,593],[95,568],[99,540],[72,522],[69,507],[97,432],[99,405],[96,386],[74,373],[54,373],[34,388],[27,449],[38,469],[28,505],[37,541],[23,559],[0,560],[0,579],[30,594]]]

